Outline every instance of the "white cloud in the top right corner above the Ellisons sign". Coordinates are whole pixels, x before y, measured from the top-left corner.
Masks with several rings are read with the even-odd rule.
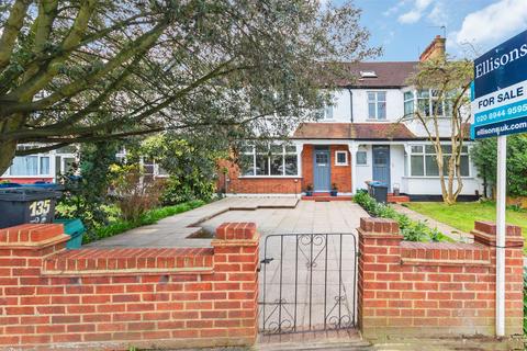
[[[484,9],[469,13],[458,32],[452,33],[457,44],[470,43],[481,47],[497,44],[527,26],[526,0],[500,0]]]

